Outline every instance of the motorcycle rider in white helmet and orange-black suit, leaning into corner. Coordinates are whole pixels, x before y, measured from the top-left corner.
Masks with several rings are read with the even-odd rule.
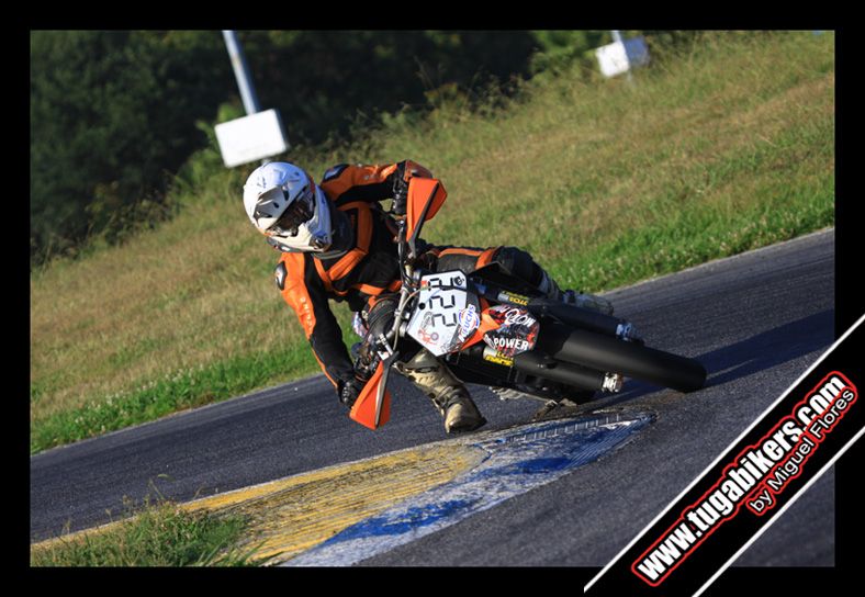
[[[397,227],[406,213],[408,181],[431,178],[412,160],[387,165],[340,164],[316,184],[302,168],[288,162],[258,167],[244,185],[244,206],[267,241],[282,251],[277,286],[296,313],[313,353],[334,385],[339,402],[351,407],[368,376],[363,362],[374,357],[369,339],[393,325],[401,285]],[[379,204],[393,199],[390,212]],[[434,271],[467,273],[495,262],[529,282],[548,297],[611,313],[604,298],[562,292],[529,254],[514,247],[442,247],[424,243],[425,266]],[[352,363],[328,298],[348,302],[366,331],[359,361]],[[366,328],[366,329],[363,329]],[[356,326],[356,329],[358,327]],[[435,356],[407,342],[395,363],[400,373],[426,394],[445,419],[445,430],[471,431],[483,418],[465,386]],[[414,345],[414,346],[412,346]]]

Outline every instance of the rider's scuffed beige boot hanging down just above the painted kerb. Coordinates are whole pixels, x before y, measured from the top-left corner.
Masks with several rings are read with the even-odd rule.
[[[448,433],[473,431],[486,423],[462,382],[425,349],[405,364],[396,364],[405,375],[432,401],[445,418]]]

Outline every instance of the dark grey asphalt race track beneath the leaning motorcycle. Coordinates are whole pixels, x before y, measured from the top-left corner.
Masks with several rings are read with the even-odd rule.
[[[629,382],[576,412],[653,416],[600,459],[361,565],[603,566],[772,404],[834,339],[834,232],[613,291],[649,343],[698,358],[707,386],[683,395]],[[276,298],[274,298],[276,300]],[[535,401],[472,386],[493,432]],[[186,502],[446,439],[426,398],[397,379],[391,421],[350,421],[315,376],[31,458],[31,541],[123,516],[124,498]],[[830,471],[737,562],[832,566]]]

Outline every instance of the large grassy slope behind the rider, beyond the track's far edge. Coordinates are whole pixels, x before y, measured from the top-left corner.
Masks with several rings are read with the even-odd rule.
[[[428,240],[519,246],[595,292],[833,225],[832,34],[711,34],[658,56],[632,86],[575,67],[290,158],[316,177],[415,159],[449,192]],[[170,222],[33,272],[33,452],[318,371],[243,211],[255,166],[202,151]]]

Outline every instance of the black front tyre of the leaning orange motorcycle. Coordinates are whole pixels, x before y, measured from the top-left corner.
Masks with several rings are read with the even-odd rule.
[[[537,348],[555,360],[621,373],[679,392],[694,392],[706,383],[706,368],[695,359],[553,322],[543,325]]]

